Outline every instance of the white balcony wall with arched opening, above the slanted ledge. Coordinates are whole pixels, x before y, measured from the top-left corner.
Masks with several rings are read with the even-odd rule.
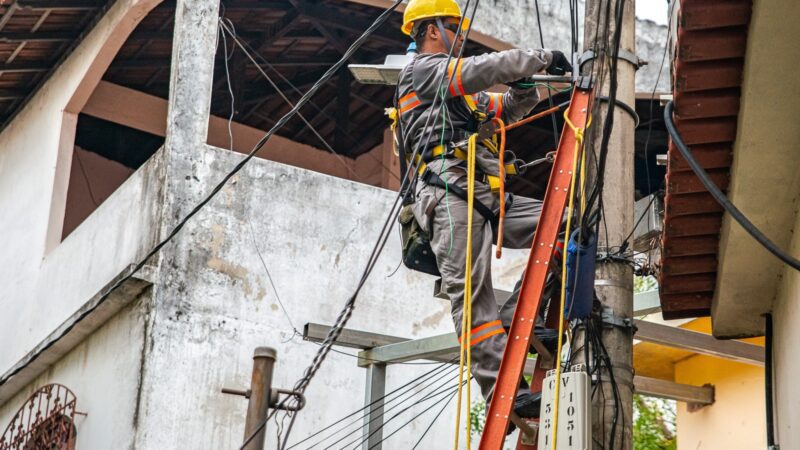
[[[152,245],[158,184],[148,171],[112,196],[119,203],[109,199],[91,224],[60,242],[76,102],[157,3],[116,2],[0,134],[0,310],[9,312],[0,315],[2,372]]]

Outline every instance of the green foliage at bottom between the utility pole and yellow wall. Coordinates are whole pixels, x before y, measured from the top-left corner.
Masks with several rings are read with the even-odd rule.
[[[676,450],[675,402],[633,396],[633,449]]]

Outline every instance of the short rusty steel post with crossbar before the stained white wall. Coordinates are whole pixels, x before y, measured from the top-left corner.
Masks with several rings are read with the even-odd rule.
[[[277,351],[272,347],[257,347],[253,354],[253,375],[250,379],[250,400],[247,403],[247,418],[244,425],[244,438],[247,439],[269,414],[270,391],[272,390],[272,369],[275,366]],[[267,426],[258,432],[245,450],[262,450],[267,435]]]

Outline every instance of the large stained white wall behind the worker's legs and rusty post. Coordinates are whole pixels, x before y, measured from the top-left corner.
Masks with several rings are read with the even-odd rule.
[[[171,217],[193,206],[240,158],[213,147],[171,151],[186,162],[170,176],[192,180],[176,192]],[[333,323],[356,285],[394,195],[271,161],[255,159],[246,166],[164,255],[137,445],[233,447],[241,439],[246,402],[219,389],[248,385],[253,349],[278,349],[274,384],[286,388],[318,349],[294,336],[278,295],[295,327]],[[497,287],[513,285],[523,255],[504,258],[496,271]],[[398,263],[393,231],[348,326],[406,337],[452,331],[448,302],[432,297],[433,277],[402,267],[389,277]],[[392,366],[388,389],[430,368]],[[299,416],[294,438],[361,408],[364,381],[365,371],[355,358],[332,353],[307,392],[308,407]],[[451,414],[444,417],[422,448],[448,445],[453,421]],[[398,433],[390,448],[410,448],[427,423],[423,418]]]

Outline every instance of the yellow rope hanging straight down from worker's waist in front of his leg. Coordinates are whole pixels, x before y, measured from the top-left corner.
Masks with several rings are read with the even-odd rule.
[[[467,257],[464,269],[464,300],[461,310],[461,351],[458,361],[458,401],[456,403],[456,437],[453,448],[458,449],[459,429],[461,427],[461,396],[464,385],[464,355],[466,354],[467,372],[467,448],[470,448],[470,424],[472,411],[470,399],[471,366],[472,366],[472,213],[475,209],[475,153],[477,134],[469,137],[467,143]]]

